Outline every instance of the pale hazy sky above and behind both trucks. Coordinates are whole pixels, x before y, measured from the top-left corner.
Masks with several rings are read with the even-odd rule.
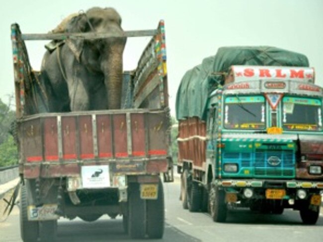
[[[0,98],[13,94],[10,24],[23,33],[47,33],[68,14],[112,6],[124,30],[154,29],[165,20],[168,88],[174,115],[176,91],[187,69],[219,47],[268,45],[305,54],[323,86],[323,0],[5,0],[0,16]],[[124,69],[136,67],[150,38],[128,39]],[[27,42],[39,70],[44,42]]]

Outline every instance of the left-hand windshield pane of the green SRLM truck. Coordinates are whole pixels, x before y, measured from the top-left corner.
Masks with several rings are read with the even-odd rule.
[[[224,126],[230,129],[264,129],[265,98],[263,96],[227,97]]]

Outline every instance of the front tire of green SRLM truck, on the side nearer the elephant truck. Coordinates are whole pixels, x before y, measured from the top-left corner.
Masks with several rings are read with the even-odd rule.
[[[225,222],[227,219],[227,204],[225,191],[213,186],[209,195],[210,213],[214,222]]]

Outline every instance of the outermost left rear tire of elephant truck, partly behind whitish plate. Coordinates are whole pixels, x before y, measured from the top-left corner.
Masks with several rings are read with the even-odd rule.
[[[36,242],[39,234],[38,221],[28,221],[28,199],[27,199],[27,187],[21,186],[20,191],[20,236],[23,242]]]

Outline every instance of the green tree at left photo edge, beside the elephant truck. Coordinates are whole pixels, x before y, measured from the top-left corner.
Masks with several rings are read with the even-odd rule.
[[[15,120],[15,113],[10,109],[12,98],[8,105],[0,99],[0,167],[11,166],[18,163],[17,146],[9,134],[11,123]]]

